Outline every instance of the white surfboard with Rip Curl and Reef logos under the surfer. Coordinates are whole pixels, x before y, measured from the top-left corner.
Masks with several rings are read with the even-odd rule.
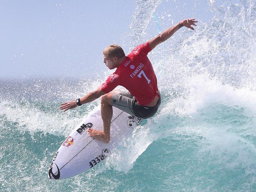
[[[93,168],[129,137],[142,119],[113,107],[110,141],[101,142],[88,135],[87,129],[103,129],[100,106],[96,107],[64,140],[56,151],[48,171],[49,179],[64,179]]]

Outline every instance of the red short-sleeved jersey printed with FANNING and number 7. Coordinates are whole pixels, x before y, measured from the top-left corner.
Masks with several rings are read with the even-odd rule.
[[[101,85],[108,93],[118,85],[125,87],[140,105],[147,105],[158,93],[156,75],[147,54],[152,49],[148,42],[136,46],[117,70]]]

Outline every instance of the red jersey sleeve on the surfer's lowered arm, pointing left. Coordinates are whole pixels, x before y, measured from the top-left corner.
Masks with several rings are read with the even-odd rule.
[[[118,85],[120,85],[120,76],[117,73],[113,73],[110,76],[108,76],[107,80],[102,83],[101,90],[103,90],[105,93],[108,93],[115,89]]]

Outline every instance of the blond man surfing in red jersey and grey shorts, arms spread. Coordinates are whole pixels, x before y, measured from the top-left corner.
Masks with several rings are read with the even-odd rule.
[[[181,27],[194,30],[191,25],[197,26],[196,22],[195,19],[184,19],[157,37],[136,46],[127,56],[120,46],[116,44],[107,46],[103,51],[104,63],[109,69],[117,68],[116,71],[98,89],[89,92],[83,98],[62,103],[60,110],[73,109],[101,96],[103,131],[89,128],[88,134],[102,142],[110,140],[112,106],[139,118],[150,118],[158,110],[161,97],[156,75],[147,54]],[[126,89],[115,89],[118,85]]]

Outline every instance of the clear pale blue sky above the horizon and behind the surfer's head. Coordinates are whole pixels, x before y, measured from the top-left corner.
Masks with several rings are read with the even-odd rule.
[[[125,40],[136,6],[135,0],[2,1],[0,78],[93,77],[107,71],[102,51],[117,43],[128,54],[131,43]],[[184,18],[209,22],[213,13],[205,0],[163,0],[154,15],[163,30]],[[146,33],[158,33],[153,19]]]

